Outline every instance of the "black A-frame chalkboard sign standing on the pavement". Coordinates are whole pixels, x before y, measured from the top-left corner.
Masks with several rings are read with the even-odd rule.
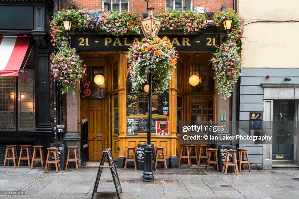
[[[107,156],[107,159],[108,159],[109,166],[104,166],[106,156]],[[113,156],[112,156],[112,153],[111,153],[111,148],[106,148],[103,151],[101,162],[100,162],[100,167],[99,167],[99,170],[97,172],[97,178],[96,178],[95,183],[94,183],[94,191],[92,192],[91,199],[93,199],[95,192],[97,192],[97,187],[99,186],[101,174],[102,174],[102,171],[105,167],[110,167],[110,171],[111,171],[112,178],[113,178],[113,181],[114,181],[116,193],[117,193],[118,199],[120,199],[119,193],[122,192],[122,190],[121,190],[117,170],[116,170],[116,167],[115,167],[115,163],[114,163],[114,160],[113,160]]]

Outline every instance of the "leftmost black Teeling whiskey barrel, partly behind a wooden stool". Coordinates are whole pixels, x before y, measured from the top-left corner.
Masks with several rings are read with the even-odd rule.
[[[60,169],[65,169],[65,163],[66,163],[66,156],[68,154],[66,144],[62,142],[55,142],[51,143],[50,147],[56,147],[57,149],[57,155],[59,158],[60,163]],[[47,152],[48,153],[48,152]],[[51,154],[51,159],[54,160],[54,153]],[[56,170],[55,164],[50,164],[51,170]]]

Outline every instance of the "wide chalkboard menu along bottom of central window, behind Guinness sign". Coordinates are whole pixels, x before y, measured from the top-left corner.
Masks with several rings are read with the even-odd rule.
[[[152,132],[156,132],[156,121],[166,121],[166,120],[167,118],[152,118]],[[146,133],[146,132],[147,132],[147,118],[127,119],[127,135],[138,135],[138,133]]]

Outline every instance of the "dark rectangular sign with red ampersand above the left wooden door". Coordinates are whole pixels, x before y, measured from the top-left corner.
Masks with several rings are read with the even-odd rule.
[[[81,81],[81,98],[106,98],[106,86],[97,85],[94,81]]]

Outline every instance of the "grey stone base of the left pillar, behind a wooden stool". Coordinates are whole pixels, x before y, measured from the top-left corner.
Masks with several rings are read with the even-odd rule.
[[[79,157],[79,163],[81,163],[81,134],[79,132],[67,132],[65,134],[64,142],[66,146],[78,146],[77,152]],[[71,151],[71,157],[75,157],[74,151]],[[70,162],[70,167],[76,167],[74,161]]]

